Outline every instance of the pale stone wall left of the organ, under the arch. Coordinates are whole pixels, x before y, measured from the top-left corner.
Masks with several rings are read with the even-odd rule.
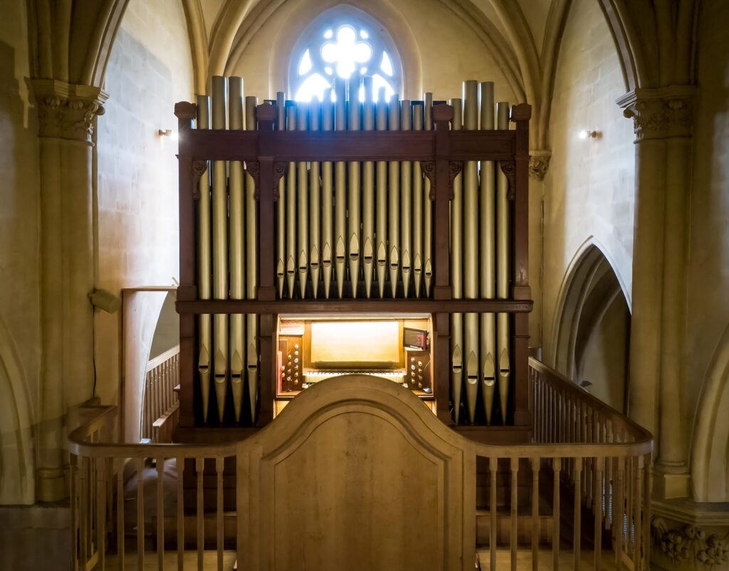
[[[176,101],[191,101],[192,61],[182,4],[133,0],[106,69],[98,120],[98,287],[171,286],[179,277]],[[140,334],[125,351],[147,362],[164,295],[149,295]],[[97,313],[97,394],[117,403],[119,316]],[[147,332],[147,333],[144,333]],[[134,379],[130,379],[133,382]]]

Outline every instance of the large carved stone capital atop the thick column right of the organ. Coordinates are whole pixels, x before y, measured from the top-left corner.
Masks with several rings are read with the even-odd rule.
[[[693,136],[693,85],[636,89],[617,99],[623,115],[633,120],[636,143],[648,139]]]

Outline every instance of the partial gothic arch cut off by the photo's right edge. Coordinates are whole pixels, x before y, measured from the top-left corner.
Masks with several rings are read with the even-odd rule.
[[[729,327],[703,382],[691,446],[691,485],[697,502],[729,501]]]

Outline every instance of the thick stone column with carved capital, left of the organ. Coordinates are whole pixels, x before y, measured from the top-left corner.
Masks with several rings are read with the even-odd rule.
[[[98,88],[32,81],[38,110],[41,193],[41,415],[37,499],[66,486],[66,413],[93,391],[92,142],[106,100]]]

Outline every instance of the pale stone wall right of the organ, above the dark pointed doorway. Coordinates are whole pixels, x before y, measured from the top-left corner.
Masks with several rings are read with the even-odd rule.
[[[615,44],[597,2],[574,2],[559,53],[544,181],[542,334],[550,364],[555,311],[569,270],[588,245],[607,257],[630,299],[634,136],[615,104],[623,93]],[[585,129],[598,136],[580,139]]]

